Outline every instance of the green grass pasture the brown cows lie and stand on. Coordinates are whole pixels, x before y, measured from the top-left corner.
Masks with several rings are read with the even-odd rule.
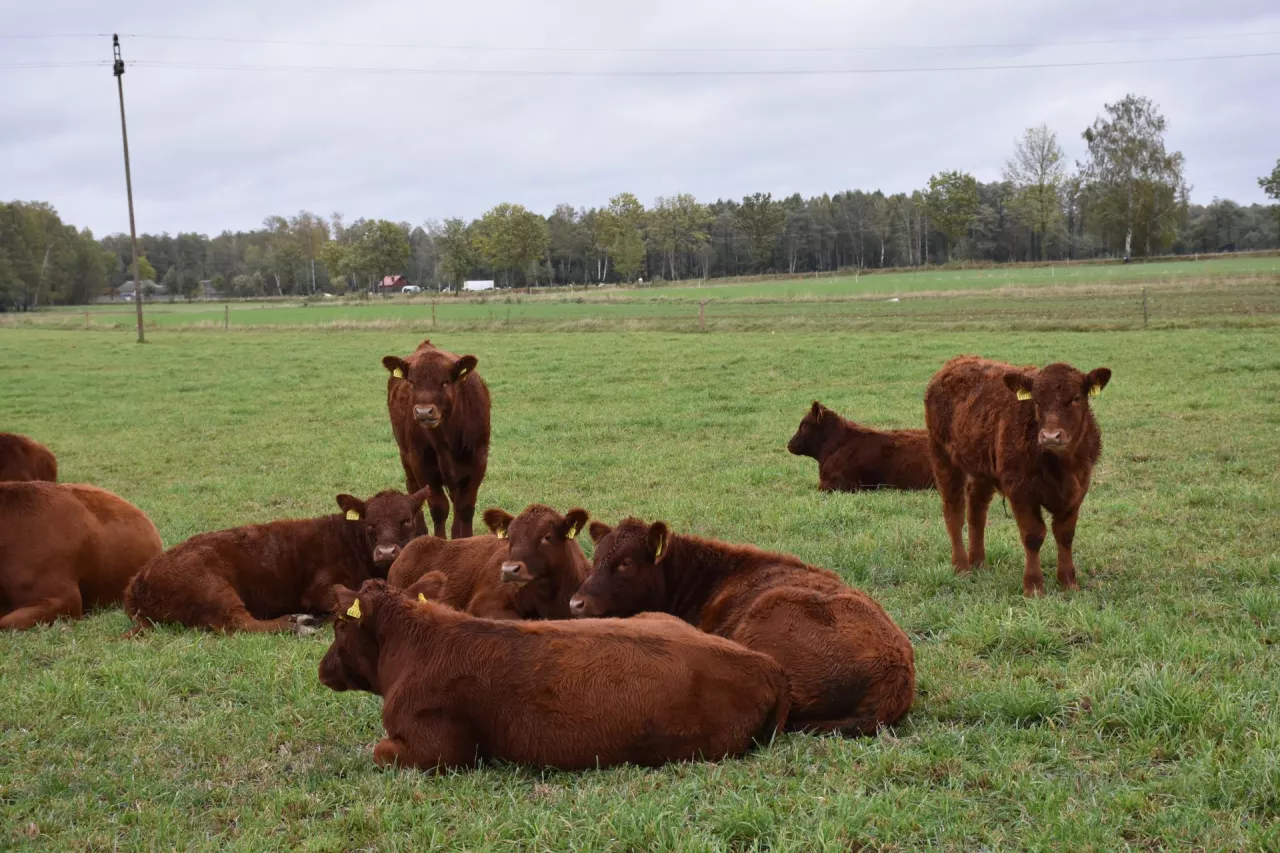
[[[265,309],[264,309],[265,310]],[[303,309],[298,309],[303,310]],[[305,309],[311,310],[311,309]],[[946,329],[946,325],[940,327]],[[421,334],[0,329],[5,429],[166,544],[401,483],[379,357]],[[328,633],[0,637],[0,848],[911,850],[1280,848],[1280,332],[454,333],[494,435],[481,507],[581,505],[831,566],[911,634],[919,695],[876,739],[740,761],[380,771],[375,697],[316,679]],[[919,424],[947,357],[1108,365],[1083,592],[956,578],[932,493],[819,494],[809,401]],[[589,543],[586,543],[589,547]],[[1053,565],[1046,546],[1046,564]]]

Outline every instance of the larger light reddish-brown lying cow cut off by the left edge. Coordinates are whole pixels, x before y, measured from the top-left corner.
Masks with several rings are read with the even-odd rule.
[[[72,483],[0,483],[0,629],[79,619],[124,596],[164,551],[124,498]]]

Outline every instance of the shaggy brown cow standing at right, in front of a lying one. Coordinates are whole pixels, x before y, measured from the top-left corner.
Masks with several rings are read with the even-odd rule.
[[[924,392],[924,420],[957,573],[987,558],[987,507],[1000,492],[1009,498],[1027,553],[1023,594],[1044,593],[1041,507],[1053,516],[1057,583],[1062,589],[1079,588],[1071,542],[1093,465],[1102,453],[1089,397],[1110,379],[1107,368],[1085,374],[1068,364],[1051,364],[1037,370],[977,356],[952,359],[934,374]],[[963,534],[966,497],[968,556]]]

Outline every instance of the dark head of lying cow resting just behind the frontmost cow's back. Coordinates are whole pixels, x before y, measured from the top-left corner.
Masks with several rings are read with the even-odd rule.
[[[591,540],[595,561],[591,574],[568,602],[573,616],[632,616],[667,610],[662,562],[671,551],[671,532],[666,524],[626,519],[609,528],[593,521]]]

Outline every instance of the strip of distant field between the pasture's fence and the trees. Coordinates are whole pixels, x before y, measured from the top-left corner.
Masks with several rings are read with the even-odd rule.
[[[1117,330],[1280,324],[1280,256],[1130,265],[1007,266],[531,295],[147,304],[150,328],[229,325],[435,332]],[[0,328],[133,328],[133,306],[0,315]]]

